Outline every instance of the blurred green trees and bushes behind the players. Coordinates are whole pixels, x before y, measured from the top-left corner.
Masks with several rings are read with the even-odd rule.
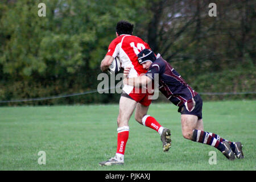
[[[46,4],[46,17],[38,4]],[[115,24],[135,24],[197,92],[255,92],[255,3],[216,1],[3,0],[0,2],[0,100],[97,89],[97,75]],[[244,95],[240,98],[255,98]],[[22,104],[117,102],[88,94]],[[224,99],[212,97],[212,99]]]

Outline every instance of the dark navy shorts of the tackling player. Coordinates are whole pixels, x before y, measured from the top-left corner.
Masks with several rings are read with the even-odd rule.
[[[180,106],[178,112],[181,114],[196,115],[198,119],[202,119],[202,108],[203,100],[199,94],[197,94],[195,97],[191,98],[191,100],[187,101],[183,106]]]

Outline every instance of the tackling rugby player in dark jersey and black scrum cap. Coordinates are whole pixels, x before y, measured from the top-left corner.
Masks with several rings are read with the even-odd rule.
[[[184,81],[166,60],[159,54],[155,56],[150,49],[143,49],[138,54],[138,61],[143,65],[143,68],[147,69],[147,73],[141,77],[128,78],[130,68],[126,68],[123,84],[140,87],[150,84],[154,79],[159,79],[160,92],[179,107],[182,134],[185,139],[213,146],[230,160],[234,160],[235,156],[238,159],[243,158],[241,142],[229,142],[217,134],[204,131],[203,101],[200,95]]]

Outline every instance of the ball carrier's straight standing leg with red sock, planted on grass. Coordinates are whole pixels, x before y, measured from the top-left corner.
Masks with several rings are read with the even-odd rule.
[[[112,166],[124,163],[123,156],[125,154],[126,142],[129,138],[128,123],[136,105],[136,101],[121,96],[119,101],[119,114],[117,118],[117,152],[113,158],[99,163],[100,166]]]

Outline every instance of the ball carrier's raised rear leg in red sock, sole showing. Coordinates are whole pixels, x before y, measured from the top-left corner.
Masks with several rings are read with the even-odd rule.
[[[163,143],[163,151],[167,152],[171,147],[171,131],[170,129],[161,126],[155,118],[147,115],[148,107],[149,106],[144,106],[138,103],[135,110],[135,119],[141,125],[158,131],[160,134],[160,139]]]

